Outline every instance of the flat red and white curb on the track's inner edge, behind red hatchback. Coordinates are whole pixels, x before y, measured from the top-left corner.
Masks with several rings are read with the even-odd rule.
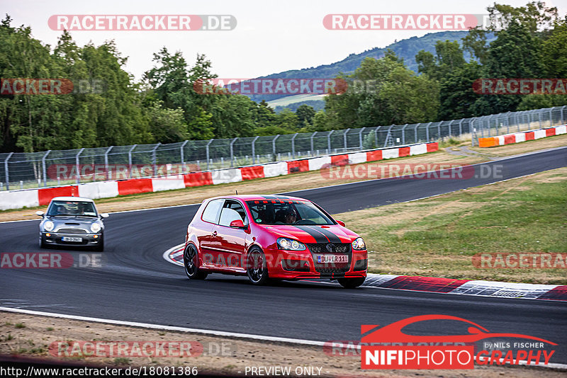
[[[172,264],[183,266],[185,244],[169,248],[163,258]],[[567,301],[567,285],[538,285],[515,282],[483,280],[455,280],[452,278],[420,277],[411,275],[378,275],[369,273],[362,287],[463,294],[479,297],[546,299]]]

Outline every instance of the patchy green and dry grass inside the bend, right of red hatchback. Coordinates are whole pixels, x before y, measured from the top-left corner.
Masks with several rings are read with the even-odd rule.
[[[336,214],[364,237],[369,272],[567,284],[567,270],[474,268],[475,253],[567,252],[567,168]]]

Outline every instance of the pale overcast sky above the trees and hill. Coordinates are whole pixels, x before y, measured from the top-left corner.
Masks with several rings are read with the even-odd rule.
[[[499,4],[522,6],[527,0],[500,0]],[[288,69],[316,67],[344,59],[374,47],[385,47],[431,30],[327,30],[327,14],[485,14],[493,1],[448,0],[0,0],[0,12],[13,18],[12,25],[29,25],[33,37],[55,45],[61,31],[50,29],[52,15],[232,15],[234,30],[76,30],[78,45],[115,40],[118,51],[128,57],[125,70],[140,79],[152,68],[153,53],[162,47],[181,51],[189,65],[205,54],[213,72],[221,78],[254,78]],[[546,1],[561,14],[567,0]],[[4,17],[3,17],[4,18]],[[433,30],[434,31],[434,30]]]

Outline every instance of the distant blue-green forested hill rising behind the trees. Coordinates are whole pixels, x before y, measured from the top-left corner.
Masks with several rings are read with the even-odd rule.
[[[373,49],[366,50],[359,54],[351,54],[348,57],[342,59],[340,62],[335,62],[331,64],[322,64],[318,67],[310,67],[305,69],[292,69],[290,71],[283,71],[279,74],[271,74],[268,76],[262,76],[266,78],[332,78],[336,77],[339,72],[344,74],[352,73],[357,67],[360,66],[360,62],[366,57],[372,57],[379,59],[384,56],[386,50],[391,49],[395,52],[398,57],[402,57],[405,66],[412,71],[417,72],[417,63],[415,62],[415,55],[420,50],[425,50],[435,54],[435,43],[439,40],[451,40],[459,41],[461,43],[461,38],[463,38],[468,31],[443,31],[438,33],[429,33],[422,37],[411,37],[406,40],[399,40],[392,43],[386,47],[374,47]],[[488,42],[493,40],[493,35],[488,35]],[[468,61],[470,55],[468,52],[464,52],[464,58]],[[281,95],[253,95],[249,96],[254,101],[271,101],[276,98],[281,98],[285,96]]]

